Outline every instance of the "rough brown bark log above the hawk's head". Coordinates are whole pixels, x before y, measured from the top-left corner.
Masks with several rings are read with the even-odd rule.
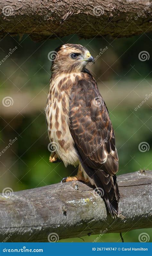
[[[70,34],[137,35],[151,31],[151,6],[148,0],[2,0],[0,37],[28,33],[39,41]]]

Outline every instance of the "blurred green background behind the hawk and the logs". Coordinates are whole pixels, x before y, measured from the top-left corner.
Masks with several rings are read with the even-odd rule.
[[[151,37],[152,34],[144,33],[131,38],[80,40],[71,35],[35,43],[24,35],[20,40],[6,36],[1,41],[1,59],[10,49],[17,49],[0,65],[0,152],[10,140],[17,139],[0,155],[0,192],[5,187],[17,191],[46,186],[77,173],[74,167],[65,168],[62,162],[49,163],[47,149],[49,139],[44,108],[51,75],[48,54],[63,43],[80,43],[97,59],[95,65],[88,65],[88,69],[97,80],[113,123],[119,156],[118,175],[152,169],[152,97],[135,110],[152,92]],[[147,51],[150,58],[141,61],[141,51]],[[7,96],[13,99],[13,105],[9,107],[2,104]],[[145,152],[139,150],[141,142],[148,146]],[[122,234],[124,242],[139,242],[138,236],[142,232],[150,235],[149,229],[130,231]],[[83,237],[85,242],[93,242],[96,238],[97,235]],[[117,241],[121,242],[119,233],[103,234],[98,240]],[[83,240],[73,238],[60,242]]]

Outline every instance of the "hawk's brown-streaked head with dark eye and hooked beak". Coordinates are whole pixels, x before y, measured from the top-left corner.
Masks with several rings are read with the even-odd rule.
[[[52,72],[81,72],[88,62],[94,62],[89,50],[80,44],[63,44],[55,49],[55,55]]]

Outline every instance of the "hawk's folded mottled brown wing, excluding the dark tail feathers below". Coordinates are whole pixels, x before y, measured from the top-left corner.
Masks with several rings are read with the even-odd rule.
[[[114,165],[104,165],[110,175],[117,168],[118,155],[115,148],[114,130],[106,104],[100,95],[96,82],[86,74],[72,87],[70,97],[70,131],[85,164],[93,169],[111,158]]]

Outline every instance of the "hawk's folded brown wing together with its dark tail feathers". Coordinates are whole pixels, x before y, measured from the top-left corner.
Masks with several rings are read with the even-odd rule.
[[[116,178],[112,177],[118,171],[114,130],[95,80],[88,73],[83,76],[71,90],[70,131],[82,166],[96,186],[104,189],[105,198],[114,201],[117,211],[119,192]]]

